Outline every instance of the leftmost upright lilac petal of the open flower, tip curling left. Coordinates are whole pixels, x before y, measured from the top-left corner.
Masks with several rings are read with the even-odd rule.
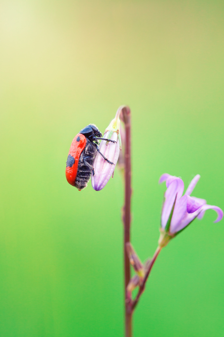
[[[175,179],[173,179],[175,178]],[[173,204],[176,198],[176,202],[178,201],[178,199],[180,199],[183,190],[184,190],[184,183],[183,180],[177,177],[173,177],[173,176],[169,176],[168,177],[169,180],[173,179],[170,182],[168,182],[169,186],[165,192],[165,202],[163,205],[163,209],[162,209],[162,216],[161,216],[161,226],[163,229],[165,229],[167,221],[169,219],[171,210],[173,208]],[[176,205],[175,205],[176,208]],[[175,210],[174,208],[174,210]],[[172,220],[171,220],[172,223]]]

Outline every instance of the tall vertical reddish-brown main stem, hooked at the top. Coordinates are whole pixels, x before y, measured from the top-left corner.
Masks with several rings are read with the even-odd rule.
[[[125,336],[132,336],[132,310],[126,302],[126,288],[130,281],[131,271],[129,257],[126,251],[126,243],[130,242],[131,224],[131,111],[128,106],[122,108],[121,119],[125,125],[125,204],[123,207],[124,223],[124,272],[125,272]]]

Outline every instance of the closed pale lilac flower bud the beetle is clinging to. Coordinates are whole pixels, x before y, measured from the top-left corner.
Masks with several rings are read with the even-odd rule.
[[[94,175],[92,173],[91,181],[92,186],[96,191],[100,191],[106,185],[112,176],[118,161],[121,150],[119,116],[122,109],[123,106],[118,109],[115,118],[110,122],[103,135],[103,138],[111,139],[117,143],[101,141],[99,145],[99,151],[113,164],[111,165],[111,163],[108,163],[106,160],[104,160],[104,158],[98,152],[94,158]]]

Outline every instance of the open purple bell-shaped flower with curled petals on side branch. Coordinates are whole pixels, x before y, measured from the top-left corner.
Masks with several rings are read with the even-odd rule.
[[[218,217],[218,222],[223,217],[223,211],[217,206],[207,205],[206,200],[190,196],[200,176],[196,175],[190,182],[186,192],[183,180],[167,173],[160,177],[159,182],[166,181],[167,190],[161,216],[160,245],[166,245],[171,238],[180,233],[196,217],[201,219],[207,209],[213,209]]]

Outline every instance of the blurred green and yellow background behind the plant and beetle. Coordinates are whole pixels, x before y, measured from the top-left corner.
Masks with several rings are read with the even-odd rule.
[[[123,180],[66,182],[73,137],[132,111],[132,242],[152,256],[165,184],[224,209],[222,1],[0,2],[0,336],[123,335]],[[161,253],[134,336],[224,336],[224,222]]]

